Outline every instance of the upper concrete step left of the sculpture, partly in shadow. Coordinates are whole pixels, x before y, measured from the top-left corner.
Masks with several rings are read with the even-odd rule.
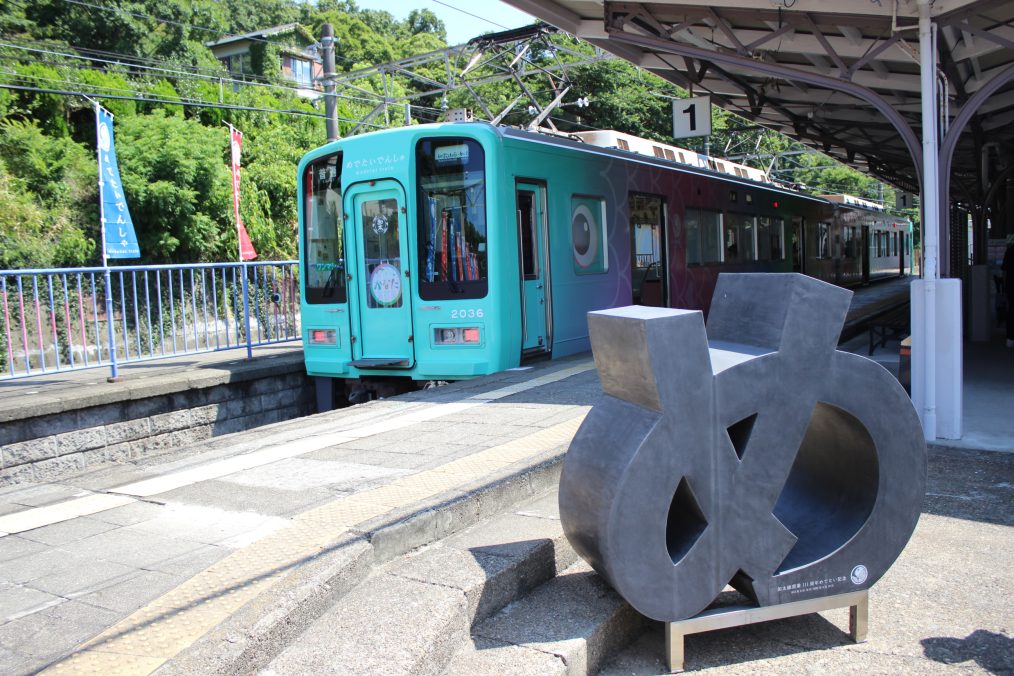
[[[378,568],[265,673],[440,673],[475,627],[575,558],[554,489]]]

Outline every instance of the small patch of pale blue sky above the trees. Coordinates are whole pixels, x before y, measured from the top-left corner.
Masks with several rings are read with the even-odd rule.
[[[356,0],[363,9],[382,9],[404,19],[413,9],[429,9],[447,26],[447,44],[460,45],[484,32],[529,25],[535,19],[499,0]]]

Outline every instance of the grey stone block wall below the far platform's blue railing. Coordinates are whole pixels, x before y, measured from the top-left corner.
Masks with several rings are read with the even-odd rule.
[[[108,391],[94,397],[82,392],[57,412],[7,417],[0,424],[0,487],[51,481],[103,462],[153,456],[314,410],[301,355],[247,372],[184,372],[122,390],[121,400],[96,404],[95,399],[117,397]]]

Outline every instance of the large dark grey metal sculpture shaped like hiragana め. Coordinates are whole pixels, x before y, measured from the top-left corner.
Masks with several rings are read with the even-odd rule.
[[[699,311],[589,313],[606,396],[564,461],[578,552],[674,621],[727,584],[768,606],[868,589],[919,519],[926,445],[878,364],[839,352],[852,292],[721,275]]]

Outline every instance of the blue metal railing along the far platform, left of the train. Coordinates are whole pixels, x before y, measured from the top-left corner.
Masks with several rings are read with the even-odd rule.
[[[298,341],[295,260],[0,271],[0,379]]]

